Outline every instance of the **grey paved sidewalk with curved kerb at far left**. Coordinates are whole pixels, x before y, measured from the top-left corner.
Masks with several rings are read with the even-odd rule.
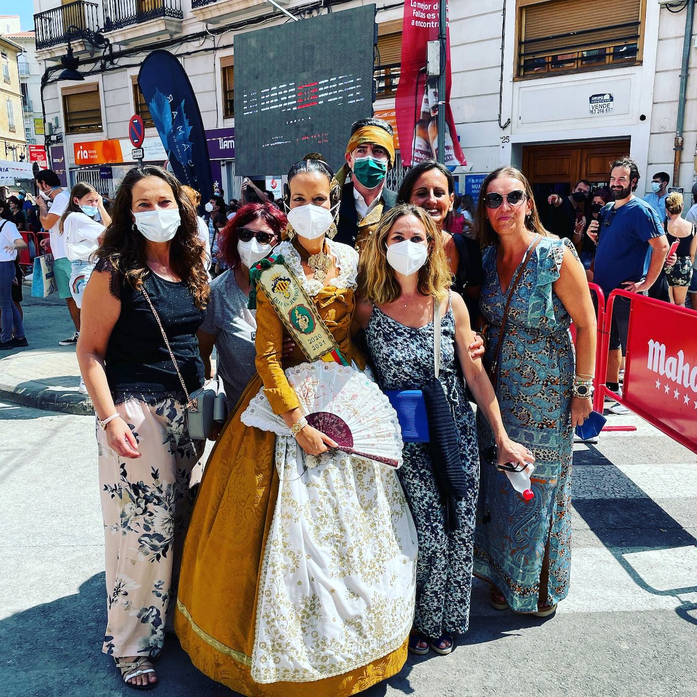
[[[29,348],[0,353],[0,399],[38,409],[90,415],[92,402],[77,388],[80,373],[75,346],[59,346],[75,327],[65,300],[53,293],[45,300],[31,297],[24,283],[24,330]]]

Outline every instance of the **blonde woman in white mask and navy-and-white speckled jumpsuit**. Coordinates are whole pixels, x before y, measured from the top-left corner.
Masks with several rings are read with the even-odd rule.
[[[386,213],[360,257],[362,299],[355,319],[365,337],[383,390],[418,389],[435,377],[434,302],[441,313],[441,369],[438,375],[459,435],[467,495],[454,504],[457,523],[446,523],[428,443],[406,443],[397,476],[416,524],[419,553],[416,608],[409,650],[452,651],[453,634],[467,630],[472,552],[479,482],[475,418],[465,396],[464,377],[492,424],[500,462],[532,461],[525,447],[508,438],[491,383],[473,344],[464,300],[449,293],[450,268],[443,238],[423,208],[398,204]],[[457,355],[457,358],[456,358]],[[436,473],[439,474],[439,473]]]

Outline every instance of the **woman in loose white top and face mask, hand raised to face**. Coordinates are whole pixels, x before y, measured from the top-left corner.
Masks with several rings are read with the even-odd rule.
[[[102,222],[95,220],[96,215]],[[70,259],[70,294],[75,305],[82,307],[82,293],[89,281],[105,227],[112,222],[104,208],[102,195],[88,183],[81,181],[70,190],[70,203],[59,222],[61,235],[66,236],[66,254]]]

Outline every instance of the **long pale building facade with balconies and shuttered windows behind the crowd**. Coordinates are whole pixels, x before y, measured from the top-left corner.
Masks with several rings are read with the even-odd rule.
[[[328,3],[281,4],[307,17],[325,12]],[[330,4],[340,11],[364,3]],[[374,110],[389,118],[399,80],[403,6],[376,4]],[[484,174],[514,164],[542,201],[547,192],[567,192],[579,178],[606,182],[609,162],[627,153],[643,175],[638,193],[650,187],[654,171],[667,171],[671,185],[689,190],[697,144],[694,77],[687,84],[684,149],[673,181],[686,6],[680,0],[450,0],[451,105],[468,160],[456,170],[461,190],[476,195]],[[194,84],[210,142],[227,144],[213,148],[214,178],[227,197],[238,192],[245,173],[235,171],[233,158],[235,37],[287,17],[266,0],[35,0],[35,9],[44,70],[58,66],[68,38],[86,61],[79,68],[84,82],[55,82],[59,70],[52,70],[43,91],[47,140],[70,170],[71,183],[87,178],[113,190],[132,166],[127,127],[134,113],[148,127],[146,160],[162,164],[135,79],[144,56],[166,47],[180,56]],[[109,38],[121,67],[110,65],[103,47],[90,43],[93,31]],[[694,29],[688,31],[694,66]],[[120,162],[98,161],[105,156],[95,142],[107,140],[121,144],[121,152],[111,156]]]

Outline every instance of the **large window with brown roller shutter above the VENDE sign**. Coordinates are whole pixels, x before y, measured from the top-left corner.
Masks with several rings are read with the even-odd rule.
[[[519,0],[518,77],[641,60],[645,0]]]

